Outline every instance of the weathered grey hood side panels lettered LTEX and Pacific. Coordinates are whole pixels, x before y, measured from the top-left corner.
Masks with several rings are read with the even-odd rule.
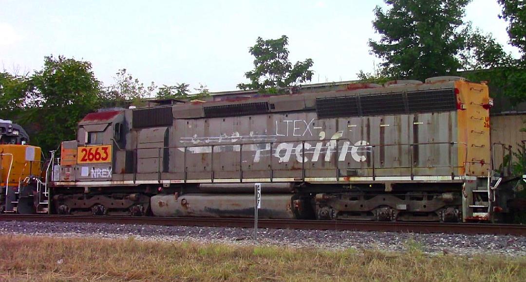
[[[212,171],[216,180],[239,179],[241,166],[244,179],[295,179],[372,176],[374,166],[376,176],[458,175],[458,147],[451,144],[457,141],[456,122],[456,111],[319,120],[315,112],[177,119],[169,145],[187,148],[170,149],[169,172],[186,168],[187,179],[210,179]]]

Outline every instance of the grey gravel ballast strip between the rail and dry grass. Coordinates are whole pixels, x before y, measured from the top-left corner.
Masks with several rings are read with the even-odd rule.
[[[225,227],[2,222],[0,234],[254,244],[254,229]],[[421,246],[427,253],[526,255],[526,237],[521,236],[259,229],[258,239],[260,244],[289,247],[397,251]]]

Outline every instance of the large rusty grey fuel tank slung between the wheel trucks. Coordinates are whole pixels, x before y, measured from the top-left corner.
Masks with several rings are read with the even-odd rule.
[[[185,194],[151,197],[151,211],[156,216],[254,217],[254,195]],[[294,219],[292,195],[262,195],[260,218]]]

